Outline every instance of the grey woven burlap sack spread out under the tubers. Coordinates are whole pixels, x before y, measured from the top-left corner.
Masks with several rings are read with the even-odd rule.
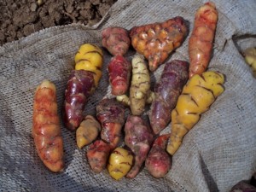
[[[239,54],[256,46],[256,3],[214,1],[219,20],[209,70],[225,74],[225,91],[183,140],[173,157],[172,170],[155,179],[146,169],[134,179],[114,181],[105,170],[90,171],[86,148],[79,150],[75,133],[61,124],[65,148],[65,172],[49,172],[39,160],[32,139],[32,99],[43,79],[57,87],[59,113],[73,57],[84,43],[101,46],[101,31],[107,26],[143,25],[183,16],[190,32],[195,10],[205,1],[119,0],[97,26],[52,27],[0,47],[0,188],[1,191],[229,191],[248,179],[256,166],[256,80]],[[236,44],[232,37],[241,38]],[[189,33],[190,35],[190,33]],[[131,57],[134,52],[128,55]],[[96,113],[96,104],[110,96],[106,67],[111,56],[104,52],[104,74],[84,114]],[[169,60],[188,61],[188,38]],[[160,77],[161,66],[152,74]],[[165,131],[169,131],[170,127]]]

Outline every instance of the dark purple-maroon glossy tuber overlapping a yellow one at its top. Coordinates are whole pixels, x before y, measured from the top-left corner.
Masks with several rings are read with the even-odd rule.
[[[84,107],[88,97],[96,89],[93,73],[85,70],[73,70],[65,90],[64,123],[67,129],[75,131],[84,118]]]

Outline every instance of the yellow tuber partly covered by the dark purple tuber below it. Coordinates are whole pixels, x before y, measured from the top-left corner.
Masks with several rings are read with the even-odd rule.
[[[94,44],[83,44],[75,55],[75,70],[84,69],[94,73],[94,80],[97,86],[99,80],[102,78],[102,63],[103,52],[102,49]]]

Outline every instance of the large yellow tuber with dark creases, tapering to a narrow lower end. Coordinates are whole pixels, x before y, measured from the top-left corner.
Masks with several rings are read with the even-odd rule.
[[[172,110],[172,128],[167,152],[175,154],[183,137],[199,121],[201,113],[206,112],[212,103],[224,92],[224,75],[208,71],[195,74],[183,87],[178,96],[176,108]]]

